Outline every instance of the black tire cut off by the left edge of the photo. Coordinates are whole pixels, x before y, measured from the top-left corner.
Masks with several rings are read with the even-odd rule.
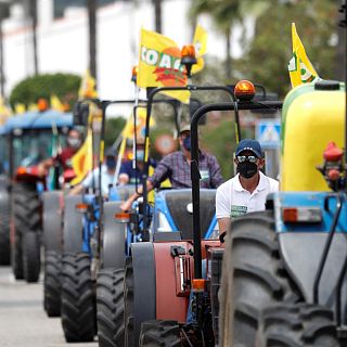
[[[10,195],[7,179],[0,179],[0,265],[10,265]]]

